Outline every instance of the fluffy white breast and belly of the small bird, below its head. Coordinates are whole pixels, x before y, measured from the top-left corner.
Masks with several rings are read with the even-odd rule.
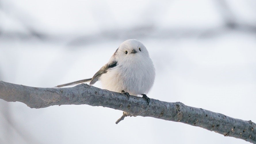
[[[110,91],[127,91],[130,95],[147,94],[153,86],[155,69],[150,57],[137,57],[102,74],[102,88]]]

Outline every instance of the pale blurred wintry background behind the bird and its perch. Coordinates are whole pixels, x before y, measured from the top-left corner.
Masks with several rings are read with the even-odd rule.
[[[255,7],[255,0],[0,0],[0,80],[54,87],[91,78],[123,41],[137,39],[156,68],[150,98],[256,122]],[[121,115],[0,99],[0,143],[249,143],[150,117],[116,125]]]

